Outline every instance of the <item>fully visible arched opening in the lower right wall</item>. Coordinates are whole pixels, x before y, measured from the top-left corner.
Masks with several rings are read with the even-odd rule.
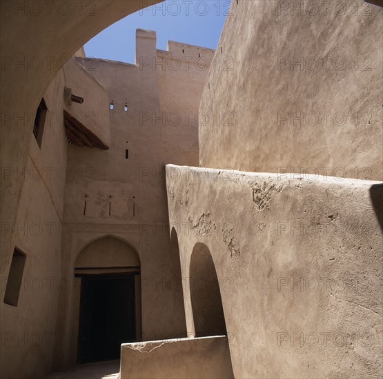
[[[226,335],[217,272],[210,251],[204,243],[196,243],[193,248],[189,276],[195,336]]]

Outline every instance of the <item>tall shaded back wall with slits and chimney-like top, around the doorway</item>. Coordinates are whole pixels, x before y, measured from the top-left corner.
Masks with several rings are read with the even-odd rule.
[[[195,116],[213,52],[175,42],[170,48],[157,50],[155,32],[137,30],[135,64],[78,57],[108,92],[110,149],[68,148],[68,172],[74,174],[66,181],[64,221],[70,232],[62,239],[62,275],[72,280],[76,256],[92,240],[108,235],[130,244],[140,259],[141,340],[186,336],[179,256],[168,233],[164,165],[170,159],[197,164]],[[181,63],[182,50],[194,60],[204,54],[204,70],[195,62],[170,68],[161,60],[165,54]],[[188,82],[188,76],[193,80]],[[172,116],[187,112],[193,122],[173,122]],[[70,326],[73,296],[61,294],[59,300],[58,328],[72,336],[70,351],[77,348]],[[68,347],[57,347],[56,355],[57,367],[75,359],[72,353],[62,358],[68,357]]]

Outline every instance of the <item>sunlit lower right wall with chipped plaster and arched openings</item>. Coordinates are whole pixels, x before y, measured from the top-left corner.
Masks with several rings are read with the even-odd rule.
[[[235,378],[382,374],[381,183],[166,169],[182,276],[206,245]]]

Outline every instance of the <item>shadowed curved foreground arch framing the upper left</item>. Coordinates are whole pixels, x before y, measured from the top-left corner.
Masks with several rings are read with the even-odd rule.
[[[157,3],[157,0],[151,3]],[[88,3],[1,4],[1,167],[26,169],[33,115],[60,68],[86,41],[108,25],[145,6],[141,0]],[[41,6],[41,8],[39,7]],[[1,221],[14,224],[23,181],[1,181]],[[1,267],[8,267],[14,236],[1,238]]]

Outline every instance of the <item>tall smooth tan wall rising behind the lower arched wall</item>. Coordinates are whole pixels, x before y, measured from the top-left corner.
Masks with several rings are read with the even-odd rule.
[[[202,95],[199,164],[382,180],[382,12],[233,1]]]

